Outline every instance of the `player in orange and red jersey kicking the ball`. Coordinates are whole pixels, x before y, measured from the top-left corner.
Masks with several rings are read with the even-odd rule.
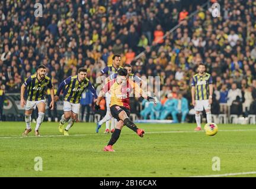
[[[101,89],[101,92],[97,98],[97,101],[95,103],[95,109],[99,109],[99,103],[101,99],[103,99],[104,94],[108,91],[111,94],[111,100],[110,100],[110,111],[113,118],[117,119],[116,129],[114,130],[110,141],[108,142],[108,145],[104,147],[104,151],[114,151],[113,145],[116,143],[117,139],[119,139],[121,129],[124,125],[126,125],[128,128],[132,129],[139,135],[140,137],[143,137],[144,131],[142,129],[137,128],[135,123],[130,120],[130,99],[129,94],[134,90],[135,96],[139,97],[142,96],[143,98],[147,100],[153,100],[155,102],[155,99],[149,96],[145,96],[142,93],[142,89],[133,82],[132,80],[127,78],[127,70],[126,69],[120,69],[118,71],[118,75],[116,79],[111,80],[110,82],[106,83]]]

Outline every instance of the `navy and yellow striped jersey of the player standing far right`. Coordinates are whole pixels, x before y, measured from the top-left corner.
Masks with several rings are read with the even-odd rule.
[[[203,76],[199,74],[193,76],[191,86],[196,87],[196,100],[209,99],[209,84],[212,83],[212,76],[209,73],[204,73]]]

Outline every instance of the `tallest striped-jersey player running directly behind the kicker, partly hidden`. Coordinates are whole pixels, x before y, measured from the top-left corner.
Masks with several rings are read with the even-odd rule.
[[[103,70],[101,70],[100,76],[103,74],[106,74],[107,76],[110,76],[111,74],[117,73],[119,69],[122,69],[123,67],[120,66],[121,62],[121,56],[119,54],[114,54],[112,57],[113,64],[112,66],[106,66]],[[105,93],[105,101],[107,106],[107,112],[103,119],[100,120],[100,122],[97,122],[96,126],[96,132],[98,133],[98,130],[101,128],[101,125],[105,123],[105,132],[104,133],[110,133],[114,132],[114,125],[116,125],[116,121],[112,118],[110,114],[110,94]],[[112,119],[111,119],[112,118]],[[110,119],[111,119],[111,130],[110,130]]]

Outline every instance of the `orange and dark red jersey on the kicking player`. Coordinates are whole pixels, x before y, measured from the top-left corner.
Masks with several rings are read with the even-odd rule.
[[[142,89],[137,83],[127,79],[125,85],[118,84],[116,79],[110,80],[103,87],[103,92],[109,92],[111,95],[110,107],[113,105],[124,106],[130,109],[130,94],[134,91],[133,96],[139,97],[142,94]]]

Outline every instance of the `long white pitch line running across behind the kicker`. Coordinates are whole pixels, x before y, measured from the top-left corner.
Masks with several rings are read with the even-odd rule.
[[[242,131],[256,131],[256,129],[233,129],[233,130],[219,130],[220,132],[242,132]],[[146,132],[145,134],[161,134],[161,133],[185,133],[185,132],[199,132],[199,131],[159,131],[159,132]],[[203,131],[200,131],[203,132]],[[134,135],[131,133],[123,133],[123,135]],[[94,133],[94,134],[76,134],[69,136],[95,136],[95,135],[105,135],[104,133]],[[11,138],[42,138],[42,137],[67,137],[64,135],[43,135],[43,136],[0,136],[0,139],[11,139]]]

